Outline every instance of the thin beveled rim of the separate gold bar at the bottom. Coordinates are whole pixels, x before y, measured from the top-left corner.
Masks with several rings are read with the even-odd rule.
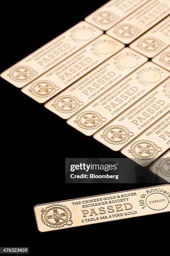
[[[47,203],[44,203],[44,204],[35,205],[35,206],[34,206],[34,214],[35,214],[35,219],[36,219],[36,223],[37,223],[37,229],[38,229],[38,231],[40,231],[41,233],[45,233],[45,232],[49,232],[49,231],[54,231],[54,230],[55,230],[55,229],[46,230],[46,231],[39,230],[38,222],[37,222],[37,216],[36,216],[36,212],[35,212],[35,208],[36,208],[37,206],[49,205],[49,204],[58,203],[58,202],[67,202],[67,201],[72,201],[72,200],[78,200],[78,199],[84,199],[84,198],[90,198],[90,197],[97,197],[97,196],[103,196],[103,195],[110,195],[110,194],[116,194],[116,193],[122,193],[122,192],[136,191],[136,190],[148,189],[148,188],[152,188],[152,187],[162,187],[162,186],[166,186],[166,185],[169,185],[169,186],[170,186],[170,183],[160,184],[160,185],[151,186],[151,187],[141,187],[141,188],[138,188],[138,189],[128,189],[128,190],[123,190],[123,191],[110,192],[110,193],[105,193],[105,194],[100,194],[100,195],[91,195],[91,196],[87,196],[87,197],[77,197],[77,198],[72,198],[72,199],[67,199],[67,200],[61,200],[61,201],[56,201],[56,202],[47,202]],[[164,211],[164,212],[166,212],[166,211]],[[160,212],[155,212],[155,214],[157,214],[157,213],[160,213]],[[163,212],[161,212],[161,213],[163,213]],[[144,216],[147,216],[147,215],[150,215],[150,214],[145,214]],[[142,215],[142,216],[143,216],[143,215]],[[133,217],[133,218],[137,218],[137,217],[140,217],[140,216],[135,216],[135,217]],[[113,221],[113,220],[110,220],[110,221]],[[107,221],[102,221],[102,222],[100,222],[100,223],[105,223],[105,222],[107,222]],[[99,223],[89,223],[88,225],[93,225],[93,224],[99,224]],[[77,228],[77,227],[81,227],[81,226],[84,226],[84,225],[70,226],[69,228]]]

